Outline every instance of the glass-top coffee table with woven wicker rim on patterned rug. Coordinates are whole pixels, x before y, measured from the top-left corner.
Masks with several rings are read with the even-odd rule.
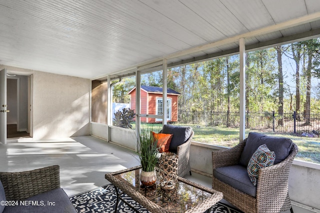
[[[141,167],[105,174],[111,184],[114,185],[117,200],[126,203],[132,210],[138,213],[130,204],[120,196],[121,192],[127,194],[134,201],[152,213],[203,213],[222,199],[222,193],[199,184],[178,177],[175,188],[162,190],[157,178],[155,185],[143,187],[140,183]],[[156,168],[157,174],[160,171]]]

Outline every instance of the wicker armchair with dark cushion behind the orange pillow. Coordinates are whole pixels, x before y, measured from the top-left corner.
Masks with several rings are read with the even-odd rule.
[[[169,152],[178,156],[178,176],[184,177],[186,174],[191,175],[190,168],[190,145],[194,132],[191,127],[163,125],[160,133],[173,134]]]

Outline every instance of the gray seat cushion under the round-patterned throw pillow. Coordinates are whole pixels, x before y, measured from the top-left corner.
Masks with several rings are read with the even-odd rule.
[[[220,167],[213,170],[213,175],[218,180],[248,194],[256,195],[256,186],[251,183],[246,167],[241,165]]]

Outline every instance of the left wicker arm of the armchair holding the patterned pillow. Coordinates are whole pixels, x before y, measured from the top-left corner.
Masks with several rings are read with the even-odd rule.
[[[236,146],[212,152],[212,169],[236,165],[239,162],[246,139]]]

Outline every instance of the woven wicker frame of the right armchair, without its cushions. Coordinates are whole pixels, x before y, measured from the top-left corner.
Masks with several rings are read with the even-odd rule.
[[[233,148],[212,152],[213,171],[220,167],[231,168],[230,166],[239,165],[245,143],[246,139]],[[279,213],[289,209],[292,213],[288,177],[297,151],[297,146],[292,143],[289,155],[283,161],[259,169],[255,197],[218,180],[214,175],[212,189],[222,192],[226,201],[244,213]]]

